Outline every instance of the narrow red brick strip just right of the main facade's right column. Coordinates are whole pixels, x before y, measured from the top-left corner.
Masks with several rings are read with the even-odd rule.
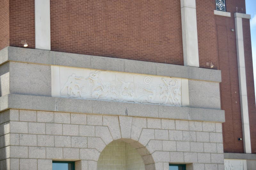
[[[203,68],[210,68],[206,63],[212,62],[213,69],[218,69],[217,37],[213,13],[215,9],[214,1],[196,0],[199,67]]]

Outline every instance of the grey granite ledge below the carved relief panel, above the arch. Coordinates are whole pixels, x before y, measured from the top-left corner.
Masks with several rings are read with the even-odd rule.
[[[105,115],[152,117],[179,120],[225,122],[224,110],[123,103],[47,96],[8,94],[0,97],[0,111],[6,109],[43,110]]]

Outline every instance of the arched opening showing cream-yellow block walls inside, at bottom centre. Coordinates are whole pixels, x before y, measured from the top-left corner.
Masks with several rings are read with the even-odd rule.
[[[132,139],[118,139],[100,153],[97,170],[146,170],[147,166],[155,169],[152,156],[143,145]]]

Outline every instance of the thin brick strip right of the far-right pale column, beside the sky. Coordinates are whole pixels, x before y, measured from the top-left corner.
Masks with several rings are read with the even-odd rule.
[[[244,36],[244,59],[245,73],[247,85],[248,111],[251,133],[252,153],[256,153],[256,107],[255,107],[255,91],[252,68],[252,44],[250,34],[250,21],[243,19],[243,36]]]

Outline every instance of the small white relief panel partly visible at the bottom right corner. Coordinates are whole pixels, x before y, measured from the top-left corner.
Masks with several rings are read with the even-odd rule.
[[[246,170],[246,160],[243,159],[224,159],[225,170]]]

